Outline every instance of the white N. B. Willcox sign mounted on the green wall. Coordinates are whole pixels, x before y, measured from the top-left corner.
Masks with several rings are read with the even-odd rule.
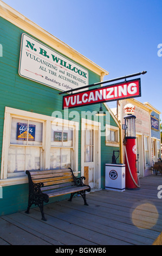
[[[19,75],[66,91],[88,85],[88,71],[27,34],[22,34]]]

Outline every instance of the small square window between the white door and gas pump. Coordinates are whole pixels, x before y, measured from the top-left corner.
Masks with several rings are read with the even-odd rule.
[[[119,147],[119,127],[106,124],[106,145]]]

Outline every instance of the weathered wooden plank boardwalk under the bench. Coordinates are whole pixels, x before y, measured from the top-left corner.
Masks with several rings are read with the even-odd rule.
[[[140,179],[139,190],[101,190],[0,217],[0,245],[152,245],[162,231],[162,176]]]

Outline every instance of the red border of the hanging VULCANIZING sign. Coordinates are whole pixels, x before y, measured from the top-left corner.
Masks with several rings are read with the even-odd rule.
[[[63,107],[63,102],[64,102],[64,97],[67,97],[67,96],[74,96],[74,95],[78,95],[79,93],[74,93],[74,94],[70,94],[70,95],[64,95],[63,98],[62,98],[62,109],[65,109],[65,108],[77,108],[77,107],[84,107],[84,106],[89,106],[89,105],[94,105],[94,104],[100,104],[100,103],[105,103],[105,102],[110,102],[110,101],[117,101],[117,100],[125,100],[125,99],[131,99],[131,98],[135,98],[135,97],[141,97],[141,79],[140,78],[137,78],[137,79],[133,79],[133,80],[129,80],[129,81],[125,81],[125,82],[120,82],[120,83],[113,83],[113,84],[110,84],[109,86],[102,86],[102,87],[98,87],[98,88],[93,88],[93,89],[89,89],[89,90],[85,90],[85,93],[86,92],[93,92],[93,90],[97,90],[97,89],[101,89],[101,88],[108,88],[108,87],[113,87],[113,86],[119,86],[120,84],[124,84],[124,83],[131,83],[131,82],[135,82],[135,81],[138,81],[139,82],[139,95],[135,95],[135,96],[126,96],[126,97],[120,97],[118,99],[109,99],[109,100],[102,100],[100,102],[93,102],[93,103],[87,103],[87,104],[83,104],[83,105],[79,105],[79,106],[71,106],[71,107]],[[79,89],[79,88],[78,88]],[[82,93],[82,92],[81,92]]]

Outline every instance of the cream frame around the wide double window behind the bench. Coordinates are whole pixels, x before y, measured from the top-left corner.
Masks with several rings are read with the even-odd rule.
[[[33,121],[40,121],[43,123],[43,135],[42,135],[42,145],[41,145],[43,149],[43,154],[42,154],[41,169],[43,168],[44,170],[50,169],[51,123],[55,121],[55,123],[59,122],[60,124],[74,127],[75,135],[74,135],[74,143],[73,143],[73,150],[74,150],[73,170],[74,170],[74,173],[77,174],[78,172],[78,138],[79,138],[78,122],[65,120],[61,118],[54,118],[48,115],[23,111],[21,109],[5,107],[3,144],[2,144],[1,179],[0,179],[1,186],[24,184],[28,182],[27,175],[8,178],[8,151],[10,146],[10,127],[11,127],[12,117],[16,117],[20,119],[30,119]]]

